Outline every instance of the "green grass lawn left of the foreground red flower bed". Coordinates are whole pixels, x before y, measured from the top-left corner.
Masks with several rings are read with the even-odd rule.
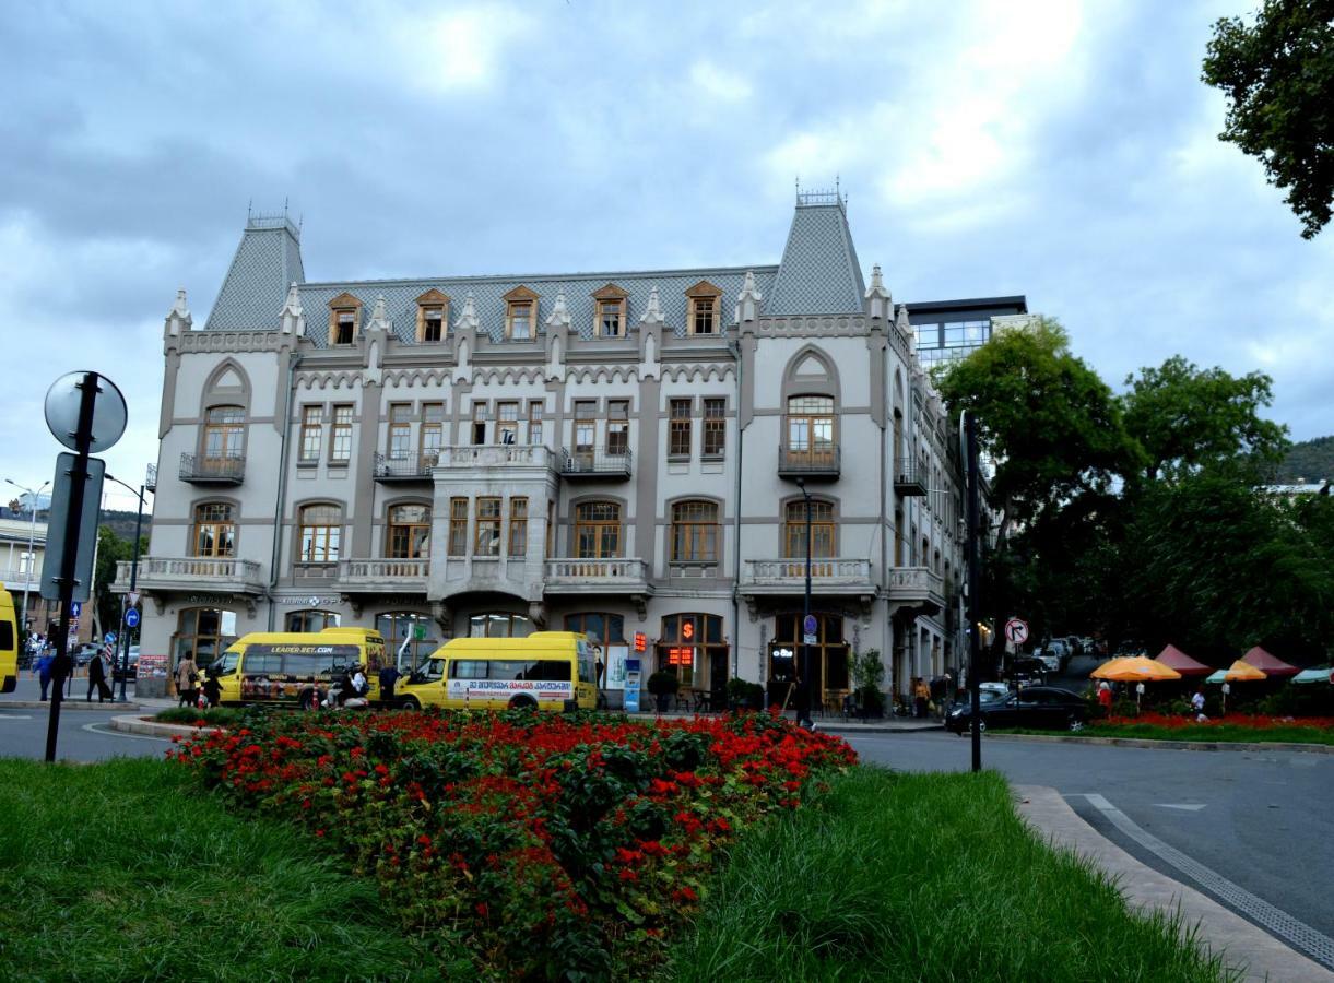
[[[0,759],[0,978],[442,976],[371,880],[164,762]]]

